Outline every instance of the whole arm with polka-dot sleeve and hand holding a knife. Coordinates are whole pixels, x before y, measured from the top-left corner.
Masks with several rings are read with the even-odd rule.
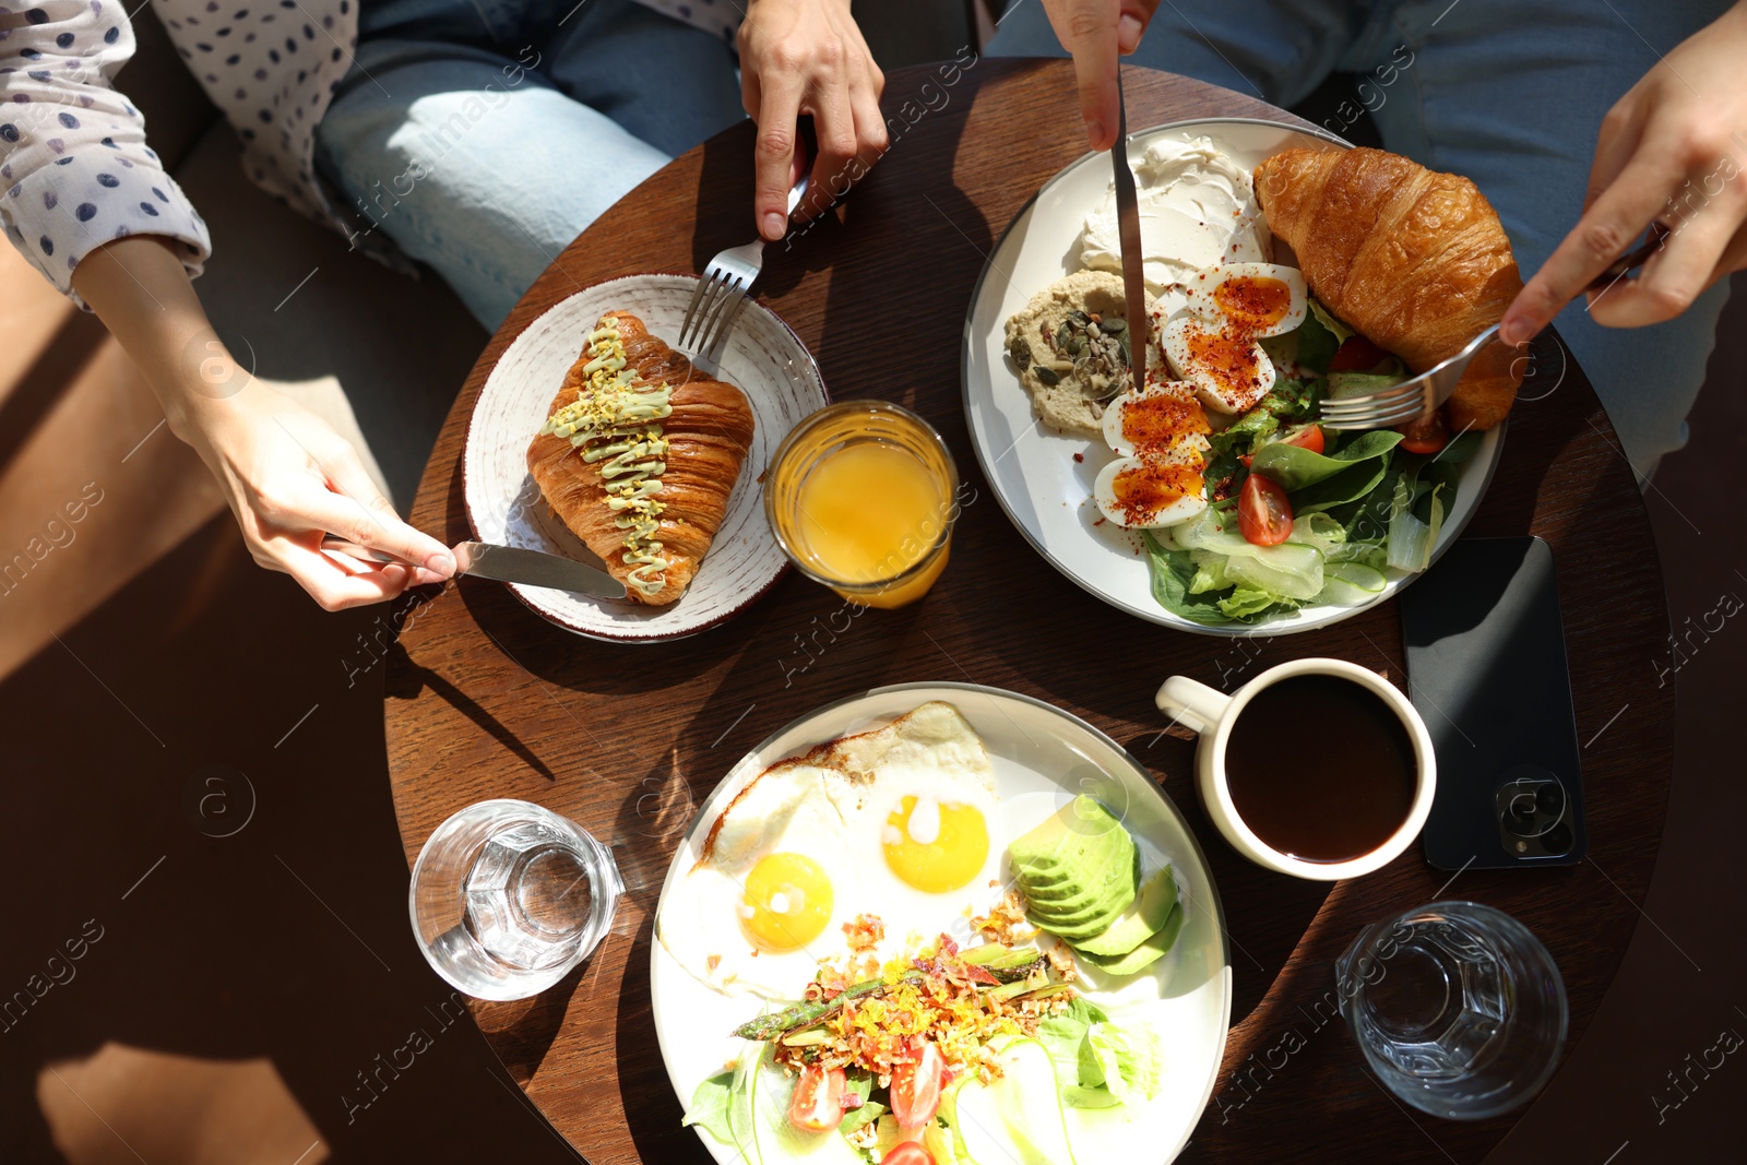
[[[145,119],[110,86],[135,47],[122,7],[38,0],[0,12],[0,30],[7,238],[115,334],[169,428],[213,470],[255,559],[328,608],[447,573],[349,569],[314,550],[316,526],[332,522],[414,561],[447,554],[400,524],[344,438],[238,369],[218,342],[190,285],[210,253],[206,225],[145,143]]]

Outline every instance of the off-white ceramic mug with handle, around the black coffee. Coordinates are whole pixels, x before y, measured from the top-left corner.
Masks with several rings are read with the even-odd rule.
[[[1305,861],[1303,858],[1282,854],[1256,837],[1254,830],[1244,823],[1232,803],[1232,788],[1225,770],[1225,751],[1232,739],[1232,727],[1258,692],[1293,676],[1340,676],[1342,679],[1350,679],[1382,699],[1401,718],[1401,725],[1408,730],[1408,739],[1413,741],[1415,784],[1408,816],[1389,835],[1389,840],[1368,854],[1359,854],[1347,861]],[[1370,873],[1399,858],[1413,844],[1413,838],[1419,837],[1419,831],[1426,826],[1427,814],[1431,814],[1431,800],[1438,789],[1438,758],[1433,755],[1431,734],[1426,732],[1426,721],[1420,720],[1419,713],[1413,711],[1413,704],[1408,702],[1408,697],[1401,695],[1396,685],[1357,664],[1335,658],[1295,660],[1270,667],[1232,695],[1197,683],[1188,676],[1172,676],[1158,688],[1158,709],[1184,728],[1200,734],[1200,746],[1195,751],[1195,786],[1200,789],[1202,805],[1219,828],[1219,833],[1225,835],[1225,840],[1237,852],[1268,870],[1279,870],[1281,873],[1315,882],[1335,882]],[[1319,734],[1319,739],[1336,741],[1338,735],[1333,734],[1338,734],[1338,727],[1329,725],[1328,728],[1331,728],[1331,735]]]

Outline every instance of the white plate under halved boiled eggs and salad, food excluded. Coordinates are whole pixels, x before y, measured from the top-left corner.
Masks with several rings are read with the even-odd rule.
[[[1293,147],[1340,150],[1345,141],[1302,128],[1251,119],[1204,119],[1130,134],[1129,157],[1155,140],[1212,138],[1244,169]],[[1172,615],[1151,594],[1141,538],[1102,515],[1092,482],[1111,459],[1101,440],[1066,437],[1036,421],[1031,398],[1008,365],[1005,328],[1032,295],[1080,269],[1080,229],[1111,183],[1109,154],[1087,154],[1055,175],[1001,236],[971,293],[964,320],[964,416],[977,461],[994,496],[1038,552],[1076,583],[1144,620],[1204,636],[1282,636],[1328,627],[1391,597],[1415,576],[1391,571],[1382,592],[1363,606],[1305,606],[1258,624],[1207,627]],[[1504,428],[1483,435],[1462,466],[1455,501],[1438,531],[1436,559],[1474,515],[1504,451]],[[1085,461],[1076,463],[1074,454]]]

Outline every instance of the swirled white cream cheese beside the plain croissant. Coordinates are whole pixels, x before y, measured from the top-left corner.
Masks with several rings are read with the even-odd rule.
[[[1202,269],[1270,260],[1268,227],[1249,171],[1211,138],[1155,141],[1130,168],[1141,208],[1146,290],[1158,299],[1162,318],[1188,306],[1184,286]],[[1094,271],[1122,274],[1115,183],[1087,218],[1080,260]]]

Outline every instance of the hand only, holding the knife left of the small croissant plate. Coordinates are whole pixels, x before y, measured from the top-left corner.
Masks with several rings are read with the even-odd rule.
[[[454,573],[449,548],[400,520],[351,442],[260,381],[246,377],[218,400],[197,396],[173,428],[218,479],[255,561],[295,578],[328,611]],[[325,554],[330,533],[423,566]]]

